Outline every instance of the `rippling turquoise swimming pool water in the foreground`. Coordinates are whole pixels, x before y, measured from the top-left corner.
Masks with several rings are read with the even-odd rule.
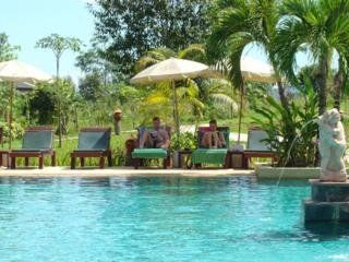
[[[349,227],[304,228],[305,182],[1,179],[0,261],[349,261]]]

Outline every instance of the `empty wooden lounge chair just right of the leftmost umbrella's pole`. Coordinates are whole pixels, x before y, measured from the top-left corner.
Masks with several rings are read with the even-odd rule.
[[[53,129],[52,127],[29,127],[26,129],[22,148],[9,152],[11,169],[15,169],[17,157],[24,157],[25,166],[29,165],[29,157],[38,158],[38,167],[44,167],[44,157],[51,157],[51,165],[56,166],[56,152],[53,150]]]

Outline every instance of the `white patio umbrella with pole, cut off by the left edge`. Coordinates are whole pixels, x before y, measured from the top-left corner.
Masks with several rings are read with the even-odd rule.
[[[51,75],[36,69],[33,66],[20,62],[17,60],[11,60],[5,62],[0,62],[0,80],[11,82],[10,91],[10,117],[9,117],[9,129],[11,134],[12,129],[12,107],[13,107],[13,93],[15,85],[19,83],[36,83],[46,82],[51,80]],[[11,150],[11,135],[9,139],[9,148]]]

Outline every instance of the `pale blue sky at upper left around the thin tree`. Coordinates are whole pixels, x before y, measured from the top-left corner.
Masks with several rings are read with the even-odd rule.
[[[87,1],[1,1],[0,32],[9,35],[11,44],[21,46],[19,60],[55,74],[53,53],[48,49],[35,48],[35,44],[39,38],[57,33],[77,37],[88,46],[94,33],[94,19],[86,8]],[[61,75],[71,75],[76,81],[81,72],[74,63],[75,53],[67,51],[61,59]]]

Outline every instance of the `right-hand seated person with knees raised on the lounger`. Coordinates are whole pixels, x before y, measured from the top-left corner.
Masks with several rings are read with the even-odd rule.
[[[201,146],[205,148],[222,148],[226,147],[225,135],[217,130],[217,121],[209,121],[209,131],[204,132]]]

